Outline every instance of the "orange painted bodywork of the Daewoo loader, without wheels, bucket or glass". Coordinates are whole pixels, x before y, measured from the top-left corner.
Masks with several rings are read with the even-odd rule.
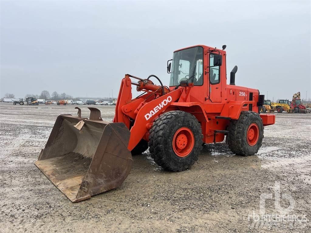
[[[193,83],[189,83],[188,86],[180,86],[178,89],[175,89],[175,86],[170,86],[169,89],[164,87],[164,95],[162,95],[161,86],[154,85],[150,80],[128,74],[123,78],[114,122],[124,122],[130,130],[129,150],[132,150],[141,139],[149,140],[149,130],[153,121],[164,112],[181,110],[193,114],[202,126],[204,143],[223,141],[224,134],[215,130],[227,130],[230,120],[239,119],[241,111],[259,113],[257,89],[227,84],[226,52],[205,45],[192,47],[198,46],[204,51],[203,85],[201,86],[193,86]],[[220,81],[217,84],[211,84],[209,81],[210,53],[222,56]],[[138,83],[132,83],[131,77],[138,79]],[[137,86],[137,91],[145,91],[145,93],[132,99],[132,84]],[[275,123],[275,115],[260,114],[260,117],[264,126]]]

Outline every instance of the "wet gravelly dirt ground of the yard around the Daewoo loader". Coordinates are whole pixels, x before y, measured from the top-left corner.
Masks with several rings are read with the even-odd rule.
[[[56,117],[76,115],[74,107],[0,103],[1,232],[311,232],[310,114],[276,114],[254,156],[236,156],[225,142],[204,145],[183,172],[163,171],[147,150],[133,157],[123,185],[72,203],[34,162]],[[112,121],[114,106],[96,107]],[[257,221],[261,194],[271,195],[266,214],[292,218]]]

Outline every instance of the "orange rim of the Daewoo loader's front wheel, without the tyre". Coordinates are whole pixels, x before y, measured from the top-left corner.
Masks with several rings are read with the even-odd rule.
[[[173,150],[178,157],[188,156],[194,147],[193,132],[187,127],[179,128],[173,137]]]

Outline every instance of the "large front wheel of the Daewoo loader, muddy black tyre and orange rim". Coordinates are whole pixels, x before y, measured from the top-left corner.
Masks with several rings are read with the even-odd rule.
[[[184,171],[197,161],[202,150],[202,129],[192,114],[183,111],[163,113],[150,130],[149,151],[159,166]]]

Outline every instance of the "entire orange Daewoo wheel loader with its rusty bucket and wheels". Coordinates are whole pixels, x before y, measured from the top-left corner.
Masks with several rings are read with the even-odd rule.
[[[274,124],[275,115],[259,114],[264,95],[258,89],[235,85],[237,66],[226,83],[224,49],[196,45],[174,51],[167,63],[169,87],[156,75],[126,74],[113,122],[103,121],[94,107],[89,118],[78,107],[77,116],[58,116],[35,165],[78,202],[121,185],[132,155],[148,146],[154,161],[169,171],[189,169],[202,144],[222,142],[225,135],[233,153],[254,155],[263,127]],[[132,86],[143,93],[132,98]]]

